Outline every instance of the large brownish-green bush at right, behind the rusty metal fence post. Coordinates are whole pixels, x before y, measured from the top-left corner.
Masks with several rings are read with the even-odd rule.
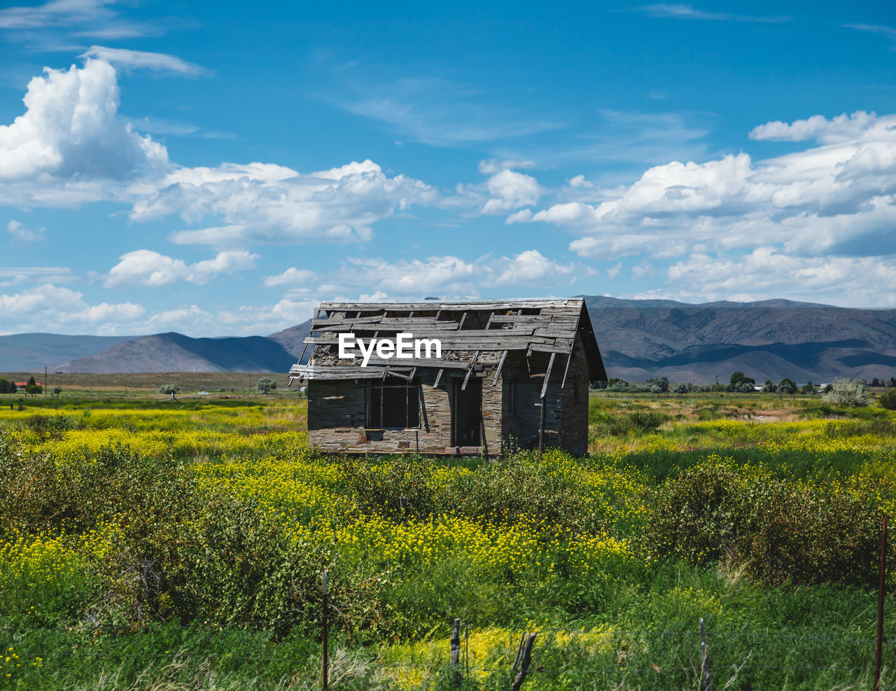
[[[736,563],[767,585],[873,584],[880,508],[839,485],[802,485],[733,463],[704,463],[652,497],[645,550],[694,564]]]

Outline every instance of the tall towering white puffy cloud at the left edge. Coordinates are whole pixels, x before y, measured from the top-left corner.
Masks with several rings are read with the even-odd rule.
[[[45,68],[24,97],[25,112],[0,125],[0,180],[123,179],[142,164],[163,165],[165,147],[119,120],[115,68]]]

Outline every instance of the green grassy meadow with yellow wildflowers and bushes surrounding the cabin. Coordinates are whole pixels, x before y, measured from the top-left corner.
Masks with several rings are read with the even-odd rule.
[[[523,688],[696,689],[701,618],[716,688],[871,686],[890,411],[592,393],[584,458],[433,459],[147,393],[0,396],[0,687],[319,688],[324,568],[333,688],[509,688],[530,631]]]

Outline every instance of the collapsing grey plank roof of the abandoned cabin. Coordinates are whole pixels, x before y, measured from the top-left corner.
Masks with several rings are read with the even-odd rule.
[[[440,358],[378,358],[366,367],[358,358],[339,358],[340,333],[356,338],[392,341],[396,334],[441,341]],[[293,379],[358,379],[398,376],[411,379],[418,367],[466,369],[496,365],[495,380],[512,350],[572,355],[576,334],[588,360],[589,379],[606,381],[607,372],[582,298],[507,300],[500,302],[358,303],[323,302],[314,315]],[[309,364],[302,365],[311,346]],[[354,350],[358,354],[358,350]],[[551,358],[553,360],[553,357]],[[397,365],[401,362],[401,365]],[[562,360],[561,360],[562,362]],[[436,386],[437,386],[436,380]]]

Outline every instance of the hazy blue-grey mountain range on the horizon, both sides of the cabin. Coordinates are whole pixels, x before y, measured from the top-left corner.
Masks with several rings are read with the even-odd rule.
[[[896,309],[579,297],[608,375],[631,382],[658,376],[727,382],[734,371],[758,382],[788,376],[816,384],[896,375]],[[222,338],[18,333],[0,336],[0,371],[285,373],[301,354],[310,324]]]

